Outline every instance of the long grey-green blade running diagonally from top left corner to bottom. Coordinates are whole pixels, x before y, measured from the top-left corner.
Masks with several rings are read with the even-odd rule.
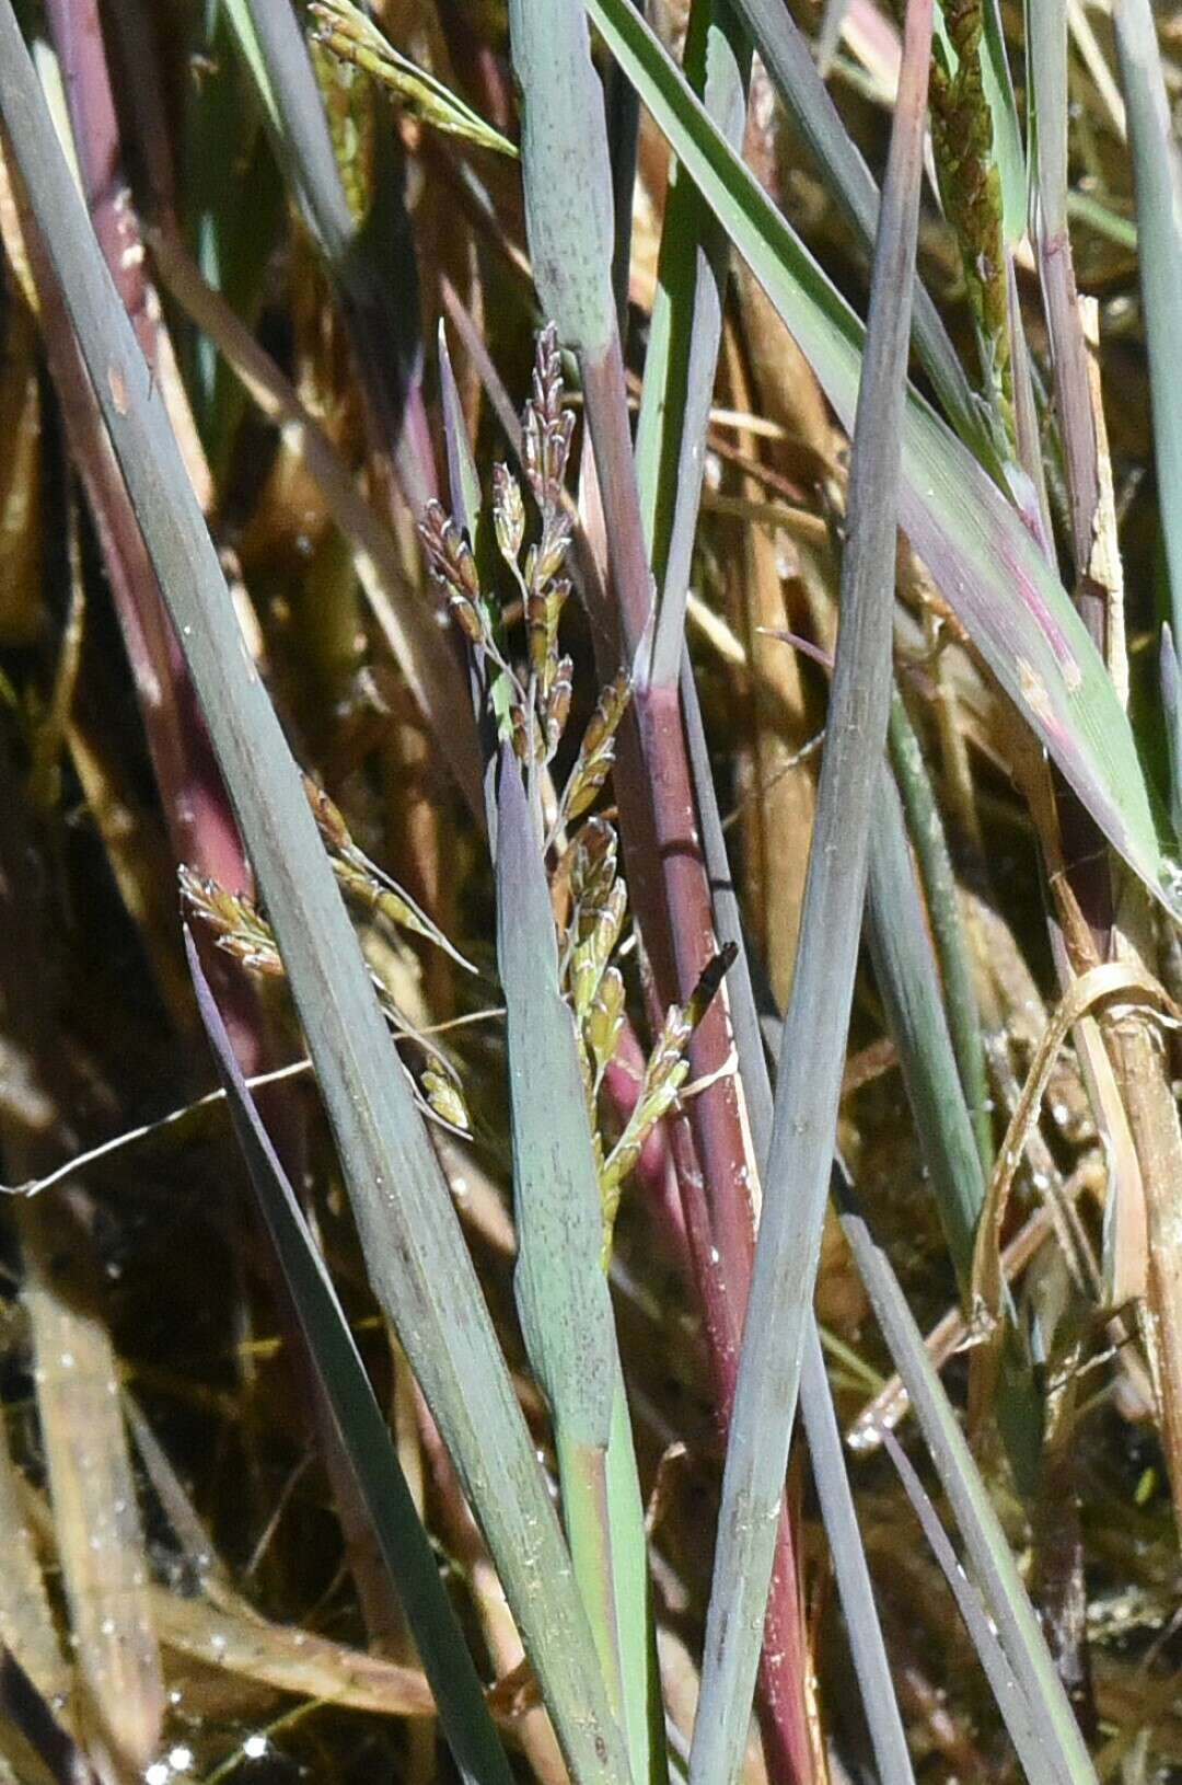
[[[0,111],[78,336],[287,966],[374,1291],[505,1583],[581,1785],[628,1760],[546,1483],[447,1185],[401,1073],[300,775],[248,659],[159,387],[0,0]]]

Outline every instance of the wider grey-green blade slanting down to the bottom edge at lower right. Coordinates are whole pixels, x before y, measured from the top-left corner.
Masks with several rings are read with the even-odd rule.
[[[1045,1755],[1043,1769],[1032,1778],[1050,1776],[1071,1785],[1095,1785],[1096,1774],[1047,1649],[1047,1639],[890,1258],[875,1244],[840,1173],[834,1173],[833,1191],[858,1273],[866,1285],[895,1367],[907,1385],[936,1473],[961,1528],[977,1585],[997,1626],[998,1642],[1025,1694]]]

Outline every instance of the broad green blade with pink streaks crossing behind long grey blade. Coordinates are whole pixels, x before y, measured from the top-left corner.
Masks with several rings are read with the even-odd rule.
[[[587,7],[849,425],[861,323],[631,7],[622,0],[587,0]],[[1059,578],[1018,512],[915,393],[902,444],[904,532],[1109,843],[1177,912],[1177,868],[1157,837],[1129,719]]]

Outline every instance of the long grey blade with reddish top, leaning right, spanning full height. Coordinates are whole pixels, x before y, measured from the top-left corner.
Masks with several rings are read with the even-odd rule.
[[[722,1476],[692,1785],[731,1785],[742,1767],[820,1255],[870,819],[891,693],[902,416],[931,29],[931,0],[911,0],[854,421],[827,743]]]

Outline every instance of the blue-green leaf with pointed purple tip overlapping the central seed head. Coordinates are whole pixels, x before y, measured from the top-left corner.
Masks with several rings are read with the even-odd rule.
[[[506,1009],[517,1214],[517,1312],[554,1421],[574,1571],[626,1731],[636,1785],[654,1680],[644,1512],[615,1317],[603,1269],[603,1198],[538,826],[513,751],[501,750],[496,823],[497,964]],[[660,1728],[660,1724],[658,1724]]]

